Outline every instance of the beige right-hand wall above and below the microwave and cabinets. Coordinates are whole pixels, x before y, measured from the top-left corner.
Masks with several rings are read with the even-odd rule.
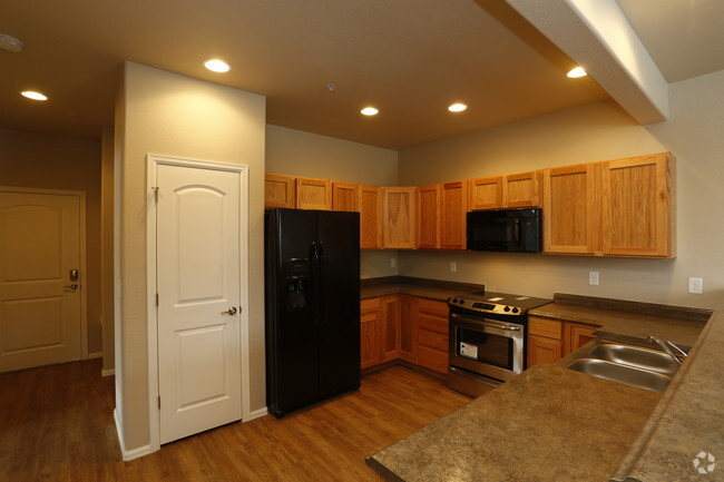
[[[400,252],[400,273],[535,296],[713,307],[724,291],[724,71],[672,85],[671,108],[669,120],[642,127],[613,102],[593,104],[402,150],[399,163],[401,184],[423,185],[671,150],[677,158],[675,259]],[[589,270],[600,273],[599,286],[588,285]],[[689,276],[704,278],[703,295],[687,293]]]

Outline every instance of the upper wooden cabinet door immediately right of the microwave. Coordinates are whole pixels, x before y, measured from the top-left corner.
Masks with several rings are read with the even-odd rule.
[[[596,171],[594,164],[544,171],[544,252],[597,253]]]

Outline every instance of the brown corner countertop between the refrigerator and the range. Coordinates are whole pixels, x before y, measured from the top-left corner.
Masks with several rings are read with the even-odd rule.
[[[360,297],[375,298],[387,295],[411,295],[421,298],[447,302],[450,296],[479,292],[485,285],[414,278],[409,276],[387,276],[384,278],[362,279]]]

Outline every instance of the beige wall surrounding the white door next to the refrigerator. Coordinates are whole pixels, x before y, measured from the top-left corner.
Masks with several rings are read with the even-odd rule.
[[[147,445],[146,155],[250,167],[251,410],[266,405],[264,382],[264,97],[126,63],[120,136],[120,325],[123,432],[127,450]],[[118,343],[117,342],[117,343]],[[118,344],[117,344],[118,347]],[[118,367],[117,367],[118,368]]]

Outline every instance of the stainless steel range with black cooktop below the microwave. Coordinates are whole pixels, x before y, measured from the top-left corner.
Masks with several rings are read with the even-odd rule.
[[[526,366],[528,311],[552,299],[476,292],[448,298],[450,366],[448,385],[478,396]]]

